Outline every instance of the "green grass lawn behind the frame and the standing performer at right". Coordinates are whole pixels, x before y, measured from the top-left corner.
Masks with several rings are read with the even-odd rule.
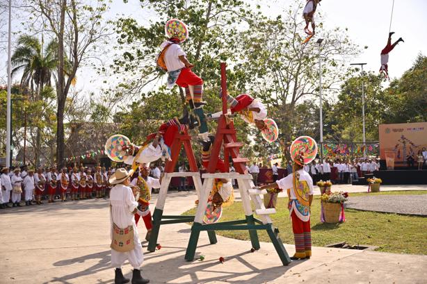
[[[427,194],[425,191],[375,192],[369,195],[385,194]],[[366,196],[367,193],[351,193],[352,196]],[[291,220],[287,210],[287,198],[277,201],[277,212],[271,215],[273,224],[280,230],[280,238],[286,244],[293,244]],[[427,217],[405,216],[392,213],[367,212],[346,209],[346,222],[326,224],[320,222],[320,197],[315,196],[312,204],[312,242],[316,247],[324,247],[335,242],[348,244],[368,244],[378,247],[378,251],[392,253],[427,254]],[[184,215],[194,215],[195,208]],[[224,208],[220,222],[244,219],[241,202]],[[270,242],[265,231],[258,231],[261,242]],[[248,231],[217,231],[218,235],[238,240],[249,240]]]

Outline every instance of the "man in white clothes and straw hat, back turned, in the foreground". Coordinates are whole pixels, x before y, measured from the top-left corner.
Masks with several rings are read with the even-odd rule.
[[[133,170],[127,172],[126,169],[120,168],[109,179],[111,185],[114,185],[110,192],[111,266],[115,267],[116,284],[129,282],[122,274],[122,265],[126,260],[134,267],[132,284],[150,282],[141,276],[140,270],[144,255],[134,219],[138,202],[129,187],[129,176],[133,173]]]

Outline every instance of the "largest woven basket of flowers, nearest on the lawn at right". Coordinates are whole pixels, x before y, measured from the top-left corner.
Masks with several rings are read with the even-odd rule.
[[[344,202],[348,200],[347,192],[325,192],[321,196],[321,222],[344,222]]]

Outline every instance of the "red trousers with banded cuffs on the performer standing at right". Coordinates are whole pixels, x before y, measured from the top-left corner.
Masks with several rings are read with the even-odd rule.
[[[292,210],[292,231],[295,238],[295,256],[305,258],[312,256],[312,233],[310,231],[310,220],[303,222]]]

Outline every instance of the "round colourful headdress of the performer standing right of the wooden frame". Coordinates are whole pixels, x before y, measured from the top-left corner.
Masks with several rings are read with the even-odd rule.
[[[317,143],[312,137],[300,136],[293,140],[290,152],[293,162],[301,166],[307,165],[316,158]]]

